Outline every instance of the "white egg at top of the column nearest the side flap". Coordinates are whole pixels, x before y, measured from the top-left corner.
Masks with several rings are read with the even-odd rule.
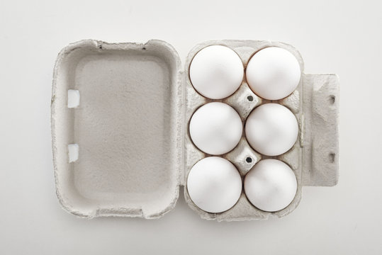
[[[246,77],[258,96],[279,100],[290,95],[300,81],[300,64],[291,52],[281,47],[266,47],[249,60]]]

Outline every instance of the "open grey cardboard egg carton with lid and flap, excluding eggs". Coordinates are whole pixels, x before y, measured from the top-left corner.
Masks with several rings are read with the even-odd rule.
[[[300,64],[296,91],[278,101],[253,93],[245,77],[237,91],[222,100],[204,98],[189,79],[196,53],[208,45],[225,45],[244,67],[264,47],[283,47]],[[304,74],[299,52],[282,42],[216,40],[196,45],[184,70],[174,48],[161,40],[146,43],[74,42],[55,64],[51,123],[57,198],[79,217],[128,216],[155,219],[174,208],[179,186],[189,206],[207,220],[264,220],[292,212],[303,186],[335,186],[338,164],[339,81],[335,74]],[[280,103],[298,120],[298,141],[285,154],[266,157],[255,152],[245,132],[235,149],[220,155],[245,174],[260,159],[286,162],[296,174],[298,189],[290,205],[264,212],[247,200],[244,189],[225,212],[196,207],[186,188],[193,164],[210,155],[193,145],[189,120],[205,103],[221,101],[235,108],[243,125],[263,103]],[[250,160],[249,160],[250,159]]]

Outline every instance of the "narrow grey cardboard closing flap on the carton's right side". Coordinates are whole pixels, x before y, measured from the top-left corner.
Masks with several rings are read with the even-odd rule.
[[[303,185],[335,186],[339,178],[339,79],[305,74],[303,80]]]

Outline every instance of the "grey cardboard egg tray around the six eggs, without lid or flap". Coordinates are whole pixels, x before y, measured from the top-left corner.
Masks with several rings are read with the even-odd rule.
[[[286,98],[283,98],[281,100],[277,101],[269,101],[263,98],[260,98],[254,92],[249,88],[246,78],[244,76],[242,84],[240,85],[239,89],[235,91],[234,94],[231,96],[228,96],[227,98],[219,99],[219,100],[213,100],[210,98],[206,98],[204,96],[201,96],[196,89],[194,89],[193,84],[191,83],[190,77],[189,77],[189,67],[191,65],[191,62],[193,60],[193,57],[203,48],[208,47],[210,45],[223,45],[226,47],[229,47],[231,50],[234,50],[237,55],[240,56],[240,59],[242,60],[244,68],[247,67],[247,64],[250,60],[250,58],[259,50],[262,50],[266,47],[282,47],[289,52],[291,52],[294,57],[298,60],[298,63],[300,64],[300,70],[301,70],[301,79],[300,82],[296,88],[296,90]],[[195,111],[205,105],[206,103],[210,102],[223,102],[227,103],[228,105],[232,106],[232,108],[235,108],[237,113],[239,113],[240,118],[242,119],[243,126],[245,125],[245,121],[251,113],[254,108],[257,106],[263,105],[264,103],[279,103],[283,106],[286,106],[289,110],[292,111],[292,113],[296,116],[296,119],[298,120],[298,125],[301,124],[301,116],[302,116],[302,84],[303,84],[303,60],[300,57],[300,54],[296,49],[291,47],[291,45],[286,45],[280,42],[269,42],[269,41],[249,41],[249,40],[222,40],[222,41],[210,41],[210,42],[204,42],[200,45],[197,45],[196,47],[191,50],[189,53],[189,56],[186,60],[185,65],[185,84],[186,84],[186,113],[185,118],[186,120],[191,120],[191,117]],[[189,123],[187,123],[187,128],[189,127]],[[299,128],[301,130],[301,128]],[[184,185],[186,187],[187,183],[187,176],[189,174],[189,171],[191,170],[192,166],[196,164],[199,160],[209,157],[209,154],[206,154],[202,152],[200,149],[196,147],[196,145],[193,144],[193,141],[191,140],[191,137],[189,133],[186,134],[185,137],[185,175],[184,175]],[[226,154],[217,155],[219,157],[223,157],[232,164],[234,164],[237,168],[237,170],[240,172],[240,175],[242,176],[242,180],[244,180],[245,175],[249,170],[253,168],[253,166],[259,162],[261,159],[267,159],[267,158],[273,158],[273,159],[279,159],[282,162],[285,162],[289,166],[291,166],[291,169],[293,169],[294,174],[296,175],[298,188],[296,192],[296,196],[286,208],[283,210],[279,210],[276,212],[265,212],[263,210],[259,210],[258,208],[254,207],[252,203],[249,202],[247,199],[247,196],[245,195],[244,188],[242,189],[242,194],[237,201],[237,203],[230,208],[229,210],[226,210],[225,212],[219,212],[219,213],[210,213],[206,212],[204,210],[201,210],[198,208],[193,201],[191,200],[189,193],[187,191],[187,187],[184,188],[184,195],[186,197],[187,203],[189,203],[189,206],[198,212],[201,217],[208,220],[216,219],[218,221],[220,220],[264,220],[267,219],[270,215],[276,215],[277,217],[281,217],[284,215],[287,215],[288,213],[292,212],[300,202],[301,198],[301,190],[302,190],[302,149],[300,146],[300,132],[298,135],[298,139],[293,145],[291,149],[288,150],[288,152],[281,154],[276,157],[267,157],[265,155],[259,154],[258,152],[254,151],[251,146],[249,146],[246,138],[245,138],[245,131],[243,129],[242,132],[242,138],[239,142],[239,144],[232,149],[232,151],[227,152]]]

